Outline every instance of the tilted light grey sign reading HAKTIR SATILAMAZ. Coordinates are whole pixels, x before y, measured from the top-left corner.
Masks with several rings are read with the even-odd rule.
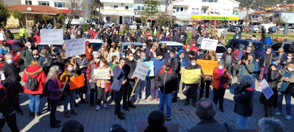
[[[146,79],[148,70],[149,65],[143,62],[138,62],[133,75],[144,81]]]

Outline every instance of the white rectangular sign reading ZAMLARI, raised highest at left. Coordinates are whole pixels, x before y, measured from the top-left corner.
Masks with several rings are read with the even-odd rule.
[[[41,29],[40,35],[40,45],[61,45],[63,43],[63,29]]]

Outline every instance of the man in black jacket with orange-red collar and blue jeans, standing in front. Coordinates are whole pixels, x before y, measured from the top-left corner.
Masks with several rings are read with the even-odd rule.
[[[158,70],[155,75],[155,87],[158,89],[159,95],[159,110],[164,111],[164,103],[166,103],[166,120],[171,120],[171,101],[172,94],[177,92],[178,78],[176,72],[171,70],[170,63],[165,61],[161,70]]]

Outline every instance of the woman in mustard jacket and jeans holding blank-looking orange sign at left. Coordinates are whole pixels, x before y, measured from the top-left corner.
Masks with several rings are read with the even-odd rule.
[[[69,85],[72,83],[70,82],[71,77],[77,77],[78,74],[74,71],[76,69],[76,66],[72,65],[71,63],[65,64],[65,69],[62,75],[60,76],[60,82],[66,82],[65,88],[64,88],[64,116],[70,118],[71,115],[69,114],[67,110],[67,106],[70,103],[71,108],[71,114],[78,115],[76,111],[74,111],[74,101],[76,96],[76,89],[69,89]],[[67,81],[66,81],[67,80]]]

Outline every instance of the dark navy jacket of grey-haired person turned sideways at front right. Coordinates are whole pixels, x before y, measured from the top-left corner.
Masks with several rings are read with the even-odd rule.
[[[241,116],[251,116],[253,112],[253,94],[255,84],[236,87],[234,89],[234,112]]]

